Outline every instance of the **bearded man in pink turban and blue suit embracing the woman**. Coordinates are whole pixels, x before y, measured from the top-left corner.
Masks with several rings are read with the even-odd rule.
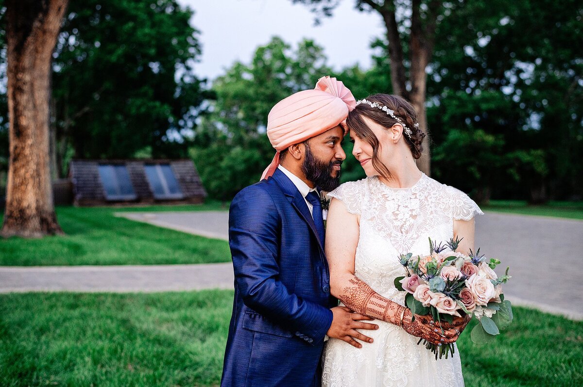
[[[229,212],[235,296],[221,386],[318,386],[326,335],[360,348],[355,339],[371,339],[354,329],[378,328],[337,306],[324,255],[317,189],[339,185],[341,124],[354,106],[342,82],[323,77],[269,112],[278,152]]]

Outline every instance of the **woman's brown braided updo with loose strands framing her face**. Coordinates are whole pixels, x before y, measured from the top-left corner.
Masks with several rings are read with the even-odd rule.
[[[417,123],[417,113],[415,108],[409,101],[405,98],[399,97],[398,95],[389,94],[373,94],[366,98],[366,101],[376,102],[378,105],[387,106],[388,109],[394,111],[394,115],[401,119],[401,122],[393,118],[391,115],[387,114],[381,108],[370,106],[369,104],[363,103],[356,105],[356,108],[352,112],[348,113],[348,118],[346,119],[346,126],[359,137],[359,139],[366,141],[373,147],[373,166],[381,173],[384,177],[390,177],[391,172],[389,172],[387,166],[382,164],[378,158],[378,149],[380,143],[377,136],[374,135],[373,131],[366,125],[363,117],[366,117],[374,122],[378,123],[385,129],[394,126],[396,123],[401,123],[410,129],[411,133],[406,134],[403,131],[403,139],[405,143],[409,145],[411,154],[413,158],[418,159],[421,157],[423,151],[422,142],[425,137],[425,133],[419,129]]]

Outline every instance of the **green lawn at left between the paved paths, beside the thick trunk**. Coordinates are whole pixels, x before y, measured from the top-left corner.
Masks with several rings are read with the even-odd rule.
[[[230,261],[229,244],[113,215],[116,211],[226,210],[220,203],[57,207],[65,236],[0,238],[0,265],[198,264]]]

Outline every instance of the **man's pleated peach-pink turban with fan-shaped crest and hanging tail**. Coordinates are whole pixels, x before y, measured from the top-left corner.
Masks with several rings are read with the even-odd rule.
[[[273,175],[280,151],[342,124],[356,106],[350,90],[336,78],[318,80],[314,90],[298,91],[273,106],[267,118],[267,137],[277,151],[261,180]]]

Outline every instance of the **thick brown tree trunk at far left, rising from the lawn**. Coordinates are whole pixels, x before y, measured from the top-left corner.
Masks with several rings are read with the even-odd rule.
[[[10,158],[0,234],[62,234],[49,159],[52,51],[68,0],[6,0]]]

